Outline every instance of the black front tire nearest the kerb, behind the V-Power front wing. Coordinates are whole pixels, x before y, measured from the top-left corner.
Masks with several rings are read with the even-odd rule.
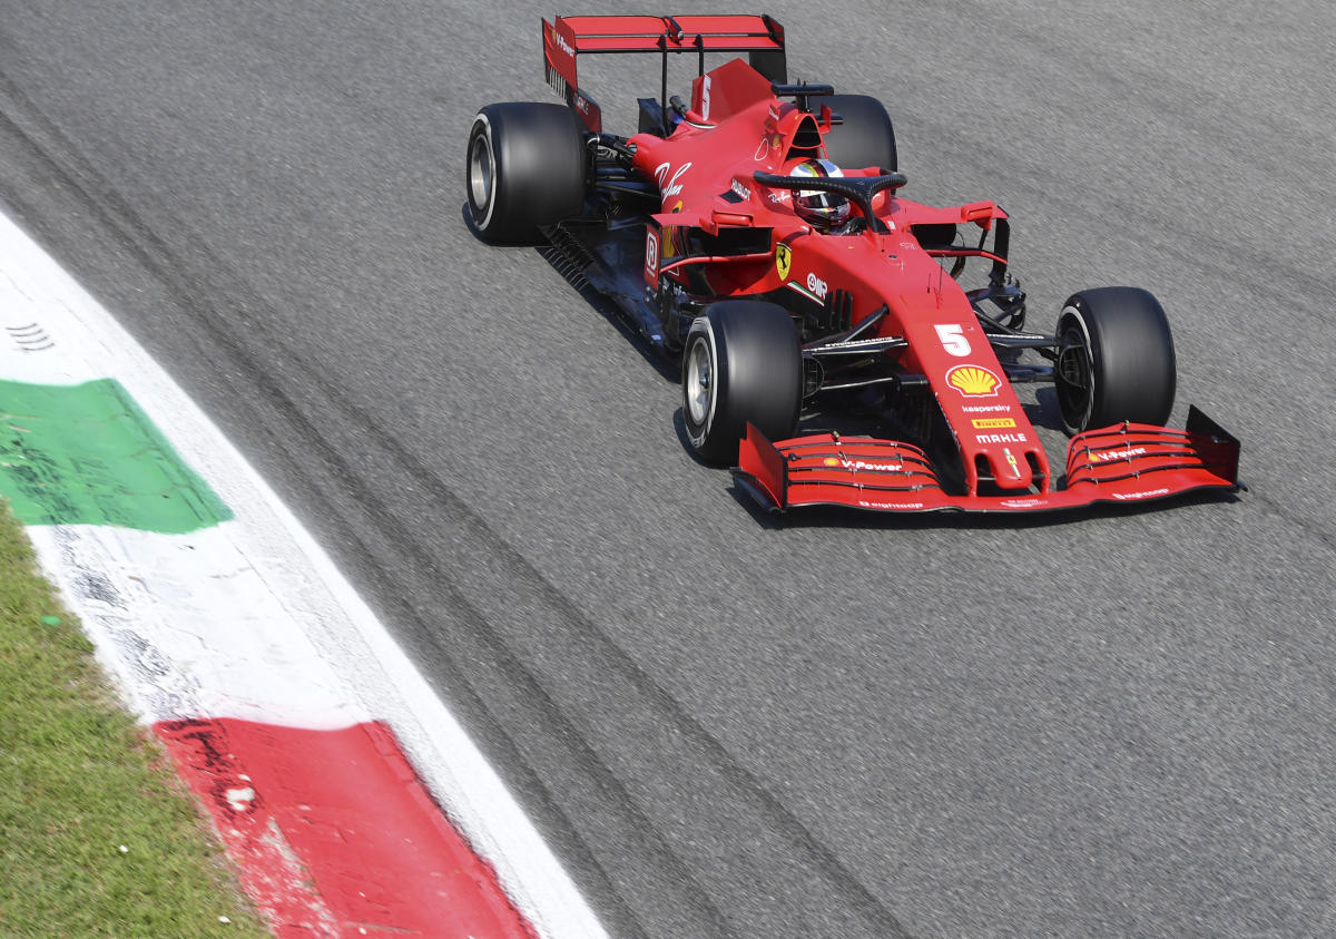
[[[681,393],[687,437],[707,463],[736,463],[748,421],[771,440],[792,436],[803,354],[788,310],[754,300],[711,305],[687,332]]]

